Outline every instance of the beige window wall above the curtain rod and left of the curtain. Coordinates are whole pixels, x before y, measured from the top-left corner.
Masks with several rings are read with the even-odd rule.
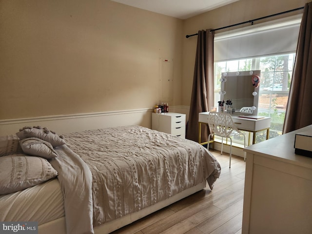
[[[183,27],[183,76],[182,76],[182,105],[190,105],[193,75],[194,75],[194,63],[196,53],[197,37],[191,37],[186,39],[186,35],[195,34],[198,30],[206,30],[209,28],[215,29],[235,23],[240,23],[256,18],[261,18],[268,15],[273,15],[279,12],[288,11],[291,9],[304,6],[306,2],[311,0],[239,0],[232,4],[217,8],[213,11],[201,14],[199,16],[185,20]],[[295,11],[293,13],[284,14],[278,17],[267,18],[264,21],[275,20],[295,14],[302,13],[301,11]],[[254,24],[263,22],[255,21]],[[250,24],[241,25],[248,26]],[[231,28],[234,29],[234,28]],[[223,31],[215,31],[224,32]]]

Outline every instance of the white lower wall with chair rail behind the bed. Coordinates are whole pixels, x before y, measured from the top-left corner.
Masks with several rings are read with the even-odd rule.
[[[47,127],[58,134],[79,132],[126,125],[152,127],[152,112],[154,108],[110,111],[101,113],[85,113],[73,115],[41,116],[31,118],[0,120],[0,136],[15,134],[24,126]],[[170,112],[184,114],[183,106],[173,106]]]

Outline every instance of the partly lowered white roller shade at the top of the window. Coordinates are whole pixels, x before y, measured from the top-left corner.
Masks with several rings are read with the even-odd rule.
[[[301,15],[215,34],[215,62],[296,51]]]

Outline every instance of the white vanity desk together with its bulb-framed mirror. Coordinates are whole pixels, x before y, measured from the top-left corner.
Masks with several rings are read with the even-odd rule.
[[[259,102],[258,94],[259,94],[260,72],[261,72],[260,70],[224,72],[222,73],[222,76],[219,80],[220,81],[219,100],[220,101],[230,100],[230,102],[233,104],[231,112],[232,115],[229,115],[231,118],[228,117],[229,119],[231,119],[229,120],[231,121],[231,124],[228,123],[227,127],[234,126],[233,129],[236,130],[236,133],[241,133],[241,131],[249,132],[247,136],[248,138],[247,145],[255,144],[255,135],[257,132],[266,131],[266,139],[269,138],[271,117],[258,116],[258,102]],[[219,114],[223,113],[219,112]],[[208,142],[201,142],[201,125],[209,124],[210,120],[208,120],[208,117],[209,112],[201,112],[198,114],[198,142],[202,145],[205,144],[209,145],[209,143],[214,143],[215,141],[215,139],[209,138]],[[229,129],[229,131],[232,130]],[[226,136],[224,135],[221,137]],[[245,146],[246,142],[244,142],[244,147]],[[221,152],[222,150],[223,150],[223,142],[221,142]],[[230,155],[232,156],[232,141],[230,146]],[[246,160],[245,153],[244,159]]]

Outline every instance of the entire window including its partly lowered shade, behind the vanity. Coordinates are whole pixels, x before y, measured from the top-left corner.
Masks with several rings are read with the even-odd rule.
[[[261,70],[258,115],[271,117],[269,138],[282,134],[301,19],[296,15],[215,34],[215,106],[221,73]],[[265,131],[256,133],[255,142],[265,137]]]

